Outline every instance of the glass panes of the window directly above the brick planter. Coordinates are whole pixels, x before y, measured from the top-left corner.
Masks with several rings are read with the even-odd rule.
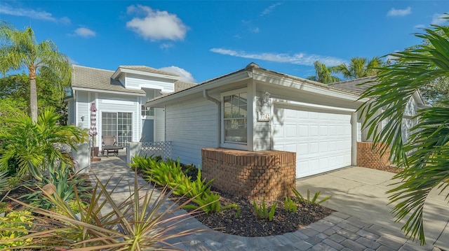
[[[247,143],[247,94],[223,96],[223,121],[226,143]]]

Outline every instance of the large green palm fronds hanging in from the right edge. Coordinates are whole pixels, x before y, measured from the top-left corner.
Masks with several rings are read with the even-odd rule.
[[[449,20],[449,16],[444,18]],[[361,96],[371,101],[359,108],[366,117],[363,127],[368,127],[368,137],[373,136],[374,143],[387,143],[381,152],[390,147],[392,162],[403,167],[394,177],[397,187],[388,192],[390,203],[395,204],[392,213],[396,221],[407,219],[403,231],[422,244],[427,196],[432,189],[444,192],[449,186],[449,100],[442,101],[446,107],[421,109],[408,143],[402,141],[407,102],[424,85],[449,78],[449,26],[432,25],[424,31],[415,36],[427,39],[429,44],[391,54],[396,60],[382,66],[378,83]],[[378,114],[380,109],[384,112]],[[382,120],[389,122],[379,129]]]

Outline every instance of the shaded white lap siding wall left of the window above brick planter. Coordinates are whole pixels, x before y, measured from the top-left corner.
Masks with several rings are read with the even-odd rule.
[[[201,165],[201,148],[217,147],[217,105],[208,100],[166,106],[166,141],[173,142],[173,158]]]

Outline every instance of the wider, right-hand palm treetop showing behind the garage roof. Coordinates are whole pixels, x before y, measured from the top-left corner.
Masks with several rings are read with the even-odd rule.
[[[377,68],[382,65],[378,57],[369,60],[364,57],[353,57],[349,65],[340,64],[337,66],[337,72],[342,73],[346,79],[365,78],[375,76]]]

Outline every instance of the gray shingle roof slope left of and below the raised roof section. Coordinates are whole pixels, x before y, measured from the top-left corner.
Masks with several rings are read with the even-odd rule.
[[[114,71],[72,65],[72,87],[145,94],[142,89],[126,89],[118,80],[111,78],[112,74]]]

